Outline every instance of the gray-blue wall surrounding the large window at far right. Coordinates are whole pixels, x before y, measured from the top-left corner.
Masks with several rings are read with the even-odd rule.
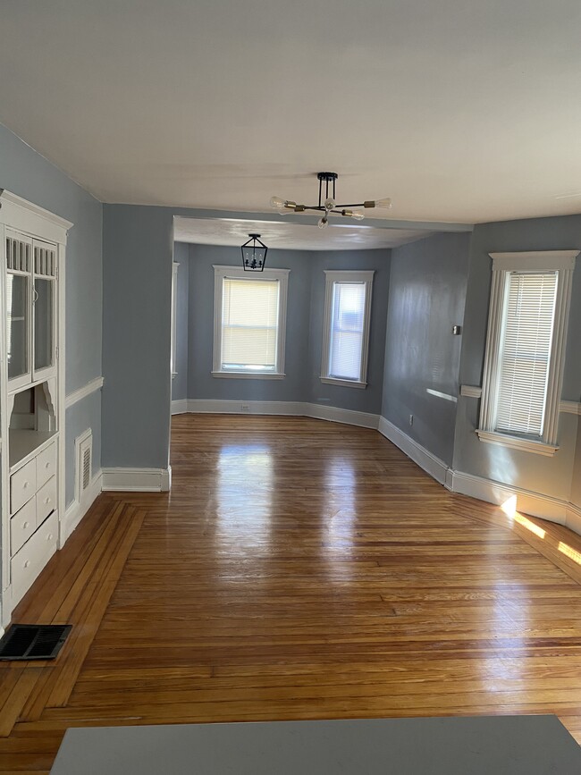
[[[466,316],[460,383],[482,384],[488,302],[492,282],[491,252],[581,249],[581,216],[536,218],[475,227],[470,250]],[[581,263],[573,279],[563,400],[581,397]],[[480,401],[459,399],[454,468],[496,482],[567,501],[573,483],[577,444],[577,417],[560,414],[560,450],[552,457],[481,442],[475,431]],[[577,482],[575,486],[578,487]],[[578,491],[577,491],[578,492]]]

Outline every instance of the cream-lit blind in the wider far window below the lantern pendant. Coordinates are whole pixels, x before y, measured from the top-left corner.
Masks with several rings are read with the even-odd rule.
[[[275,372],[279,281],[224,277],[222,299],[221,367]]]

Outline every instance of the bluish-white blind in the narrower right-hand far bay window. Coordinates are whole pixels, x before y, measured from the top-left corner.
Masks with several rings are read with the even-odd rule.
[[[362,378],[365,311],[365,282],[333,282],[329,376]]]

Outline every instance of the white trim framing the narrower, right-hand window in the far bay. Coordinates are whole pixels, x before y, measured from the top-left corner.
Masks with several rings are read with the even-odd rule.
[[[324,270],[324,318],[323,318],[323,348],[321,353],[321,382],[324,384],[341,385],[365,389],[367,386],[367,360],[369,358],[369,331],[371,324],[371,294],[373,291],[374,269],[355,270]],[[329,356],[331,346],[331,316],[333,309],[334,282],[365,282],[366,307],[363,321],[363,348],[361,352],[361,370],[358,380],[341,379],[329,374]]]

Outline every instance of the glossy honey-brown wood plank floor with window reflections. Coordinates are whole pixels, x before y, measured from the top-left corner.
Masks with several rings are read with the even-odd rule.
[[[0,663],[0,771],[100,724],[550,712],[581,739],[580,536],[348,425],[174,417],[172,460],[171,496],[102,495],[16,611],[74,628]]]

